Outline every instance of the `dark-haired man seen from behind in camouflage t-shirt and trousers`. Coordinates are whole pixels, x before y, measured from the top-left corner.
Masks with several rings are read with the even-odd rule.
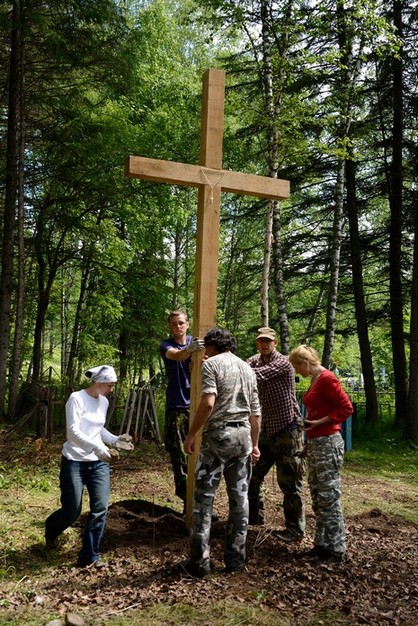
[[[184,442],[193,454],[203,428],[196,464],[189,560],[184,569],[198,577],[210,573],[210,528],[213,501],[222,476],[229,500],[224,562],[228,572],[244,568],[248,528],[248,484],[251,463],[260,456],[260,405],[251,368],[235,354],[235,339],[213,328],[204,338],[201,400]]]

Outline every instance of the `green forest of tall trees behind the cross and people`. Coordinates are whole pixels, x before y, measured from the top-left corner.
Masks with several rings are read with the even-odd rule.
[[[0,5],[0,414],[113,364],[161,371],[193,310],[197,192],[127,179],[197,163],[202,75],[227,74],[217,323],[315,347],[358,419],[418,439],[417,25],[412,0],[38,0]],[[360,397],[361,396],[361,397]],[[388,412],[382,407],[393,410]]]

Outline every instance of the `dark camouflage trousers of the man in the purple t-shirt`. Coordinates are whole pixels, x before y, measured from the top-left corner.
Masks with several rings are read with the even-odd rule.
[[[183,502],[187,494],[187,456],[183,444],[189,431],[188,409],[167,409],[165,414],[164,443],[170,455],[174,474],[176,496]]]

